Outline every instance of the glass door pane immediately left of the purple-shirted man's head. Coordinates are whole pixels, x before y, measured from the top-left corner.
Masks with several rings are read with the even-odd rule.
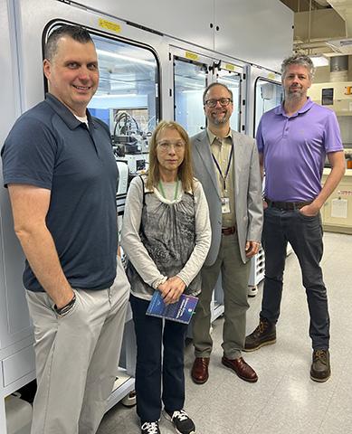
[[[283,101],[283,89],[281,83],[258,78],[255,81],[255,113],[254,136],[257,132],[262,114],[279,106]]]

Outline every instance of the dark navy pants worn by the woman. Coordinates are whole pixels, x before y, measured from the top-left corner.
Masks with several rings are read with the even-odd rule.
[[[155,421],[162,401],[167,411],[184,408],[187,325],[166,320],[163,327],[162,319],[146,315],[147,300],[131,296],[130,304],[137,336],[137,413],[142,422]]]

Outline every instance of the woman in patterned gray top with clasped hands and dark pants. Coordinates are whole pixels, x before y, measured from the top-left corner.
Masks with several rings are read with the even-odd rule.
[[[137,176],[129,186],[121,234],[137,336],[142,434],[160,433],[162,405],[176,432],[195,432],[184,410],[187,325],[166,320],[163,327],[162,319],[146,316],[146,311],[156,290],[166,304],[182,293],[199,294],[199,270],[210,241],[208,207],[202,185],[193,177],[189,138],[176,122],[162,121],[149,144],[147,175]]]

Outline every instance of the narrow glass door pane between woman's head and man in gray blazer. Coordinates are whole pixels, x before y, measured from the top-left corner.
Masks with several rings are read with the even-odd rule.
[[[208,66],[205,63],[174,57],[174,116],[189,136],[205,128],[203,92],[207,83]]]

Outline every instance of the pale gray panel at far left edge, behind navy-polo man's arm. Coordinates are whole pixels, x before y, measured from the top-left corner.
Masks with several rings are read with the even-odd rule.
[[[18,60],[13,2],[0,0],[2,112],[0,147],[20,114]],[[1,350],[32,333],[22,286],[23,254],[13,231],[8,193],[0,161],[0,355]]]

